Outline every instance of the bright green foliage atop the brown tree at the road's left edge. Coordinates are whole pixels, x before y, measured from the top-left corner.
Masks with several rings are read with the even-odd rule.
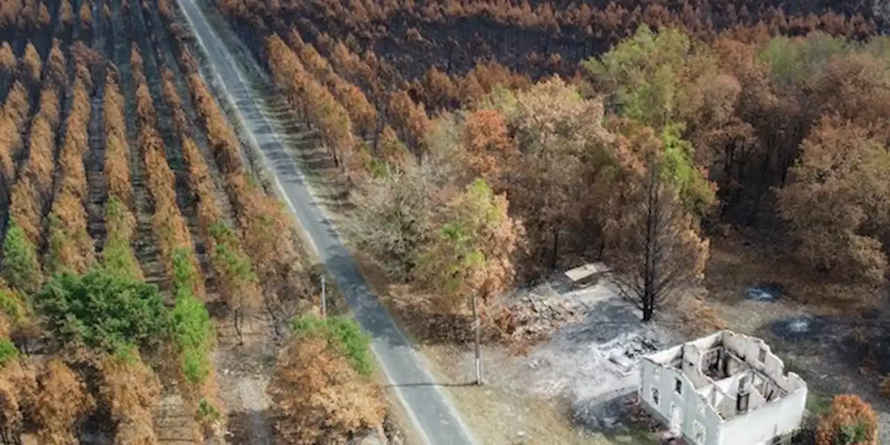
[[[342,316],[322,319],[305,315],[291,320],[290,329],[298,338],[327,339],[349,358],[352,368],[362,376],[369,376],[373,372],[371,339],[361,332],[361,328],[354,320]]]

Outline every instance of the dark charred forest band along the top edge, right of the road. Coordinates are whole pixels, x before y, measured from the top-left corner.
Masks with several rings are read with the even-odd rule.
[[[326,32],[349,40],[357,53],[386,57],[409,80],[431,68],[449,75],[465,73],[479,60],[499,61],[533,78],[553,72],[570,76],[579,61],[608,51],[643,24],[679,28],[701,38],[725,32],[749,40],[804,36],[814,30],[864,38],[877,34],[886,22],[881,15],[886,13],[867,2],[814,7],[724,0],[647,4],[372,0],[345,7],[323,0],[299,4],[224,0],[219,7],[239,32],[281,33],[292,26],[303,36]]]

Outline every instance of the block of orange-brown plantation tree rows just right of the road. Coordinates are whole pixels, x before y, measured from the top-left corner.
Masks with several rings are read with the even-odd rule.
[[[351,123],[354,123],[353,139],[370,140],[369,151],[377,158],[401,157],[398,152],[384,153],[381,150],[381,137],[386,134],[387,140],[392,140],[393,133],[407,142],[407,147],[417,158],[422,157],[425,136],[430,128],[427,110],[440,112],[460,104],[470,104],[490,93],[495,85],[513,88],[530,85],[528,77],[516,75],[497,62],[480,62],[465,76],[449,77],[437,69],[430,69],[424,77],[415,79],[402,89],[404,80],[400,73],[373,53],[358,56],[342,41],[334,41],[322,34],[317,42],[323,52],[329,54],[328,61],[312,44],[303,41],[295,28],[284,36],[284,40],[279,36],[269,37],[264,57],[273,74],[283,73],[278,79],[280,87],[285,91],[300,93],[292,95],[291,103],[300,110],[328,110],[314,111],[313,115],[303,112],[307,122],[320,129],[328,146],[331,143],[329,140],[346,131],[346,125],[342,124],[343,112],[339,108],[342,106]],[[282,44],[285,40],[287,45]],[[273,47],[275,53],[271,52]],[[287,47],[293,51],[293,56],[284,51]],[[298,63],[296,68],[290,67],[295,63]],[[299,76],[287,77],[289,69],[297,69]],[[309,88],[301,85],[309,85]],[[328,92],[320,86],[326,87]],[[308,103],[312,105],[306,105]],[[340,136],[340,139],[344,137]],[[401,143],[389,148],[395,147],[401,147]],[[346,173],[358,174],[369,167],[373,168],[368,149],[359,147],[354,151],[358,155],[355,158],[360,162],[347,166]],[[333,154],[336,160],[336,152]]]

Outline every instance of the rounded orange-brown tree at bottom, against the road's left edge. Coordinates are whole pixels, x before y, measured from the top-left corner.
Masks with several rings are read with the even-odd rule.
[[[288,443],[339,443],[384,420],[380,388],[322,338],[295,339],[279,352],[267,391]]]

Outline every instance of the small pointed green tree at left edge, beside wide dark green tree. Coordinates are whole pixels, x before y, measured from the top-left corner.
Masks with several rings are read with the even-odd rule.
[[[36,292],[40,288],[42,277],[37,249],[14,218],[10,218],[6,230],[3,257],[3,274],[10,286],[25,292]]]

